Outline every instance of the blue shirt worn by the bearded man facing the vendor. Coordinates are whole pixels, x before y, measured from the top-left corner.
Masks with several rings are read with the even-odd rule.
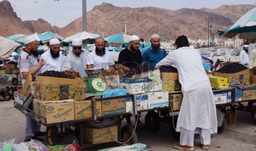
[[[149,62],[149,65],[152,67],[156,66],[160,60],[164,59],[165,51],[161,49],[159,51],[152,51],[150,48],[142,54],[143,62]]]

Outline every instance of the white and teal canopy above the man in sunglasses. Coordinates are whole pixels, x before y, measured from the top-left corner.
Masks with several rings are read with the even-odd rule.
[[[96,39],[97,37],[101,37],[101,36],[99,34],[83,31],[83,32],[74,34],[73,36],[69,36],[69,37],[65,38],[64,40],[62,40],[61,42],[70,43],[70,42],[72,42],[73,38],[77,38],[77,37],[84,40],[84,43],[90,43],[91,40]]]

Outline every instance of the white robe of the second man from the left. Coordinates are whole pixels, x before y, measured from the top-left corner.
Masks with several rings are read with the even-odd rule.
[[[62,51],[59,51],[59,57],[53,58],[50,49],[40,56],[40,59],[45,60],[45,65],[41,68],[42,72],[45,71],[62,71],[62,64],[64,62]]]

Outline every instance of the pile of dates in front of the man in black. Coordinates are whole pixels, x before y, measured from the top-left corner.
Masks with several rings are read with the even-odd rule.
[[[135,68],[124,71],[126,78],[132,78],[135,74],[141,74],[143,72],[153,71],[155,67],[149,66],[148,64],[142,64]]]

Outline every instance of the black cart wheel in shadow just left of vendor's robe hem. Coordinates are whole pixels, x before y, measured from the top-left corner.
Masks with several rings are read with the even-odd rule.
[[[154,111],[146,113],[145,126],[146,129],[148,129],[148,131],[150,132],[159,131],[161,126],[161,120],[159,118],[159,115]]]

